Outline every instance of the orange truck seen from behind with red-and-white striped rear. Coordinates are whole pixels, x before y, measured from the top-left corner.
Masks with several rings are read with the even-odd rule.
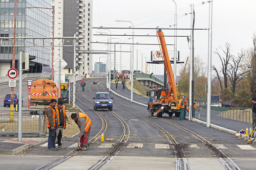
[[[45,109],[51,99],[58,99],[58,87],[52,80],[39,79],[33,82],[30,92],[30,109]]]

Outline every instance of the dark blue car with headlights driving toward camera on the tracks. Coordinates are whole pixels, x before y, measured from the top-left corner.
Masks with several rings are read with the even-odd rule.
[[[110,93],[108,92],[98,92],[95,94],[95,98],[93,102],[93,109],[97,111],[98,109],[109,109],[113,110],[113,101]]]

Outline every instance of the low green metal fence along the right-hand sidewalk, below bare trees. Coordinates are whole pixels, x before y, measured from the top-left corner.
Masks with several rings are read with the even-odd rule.
[[[199,106],[199,112],[206,113],[206,106]],[[211,106],[210,113],[212,115],[239,120],[242,122],[252,123],[252,110],[249,107],[213,107]]]

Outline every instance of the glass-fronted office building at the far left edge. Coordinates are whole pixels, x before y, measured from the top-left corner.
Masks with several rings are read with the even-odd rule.
[[[0,2],[0,34],[1,37],[13,37],[14,33],[14,0]],[[51,0],[17,0],[16,17],[16,55],[15,68],[18,68],[19,52],[29,53],[35,59],[31,60],[29,71],[41,72],[42,66],[51,64],[50,47],[26,45],[42,44],[41,40],[20,39],[19,37],[50,37],[51,10],[29,9],[28,6],[51,8]],[[24,44],[25,43],[25,44]],[[51,45],[51,40],[45,40],[45,45]],[[12,67],[12,39],[5,39],[0,45],[0,76],[6,76]]]

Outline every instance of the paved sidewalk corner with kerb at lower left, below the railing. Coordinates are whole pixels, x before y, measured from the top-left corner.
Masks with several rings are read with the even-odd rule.
[[[34,145],[47,141],[48,138],[18,138],[5,137],[0,138],[0,154],[17,155],[24,150],[33,147]]]

